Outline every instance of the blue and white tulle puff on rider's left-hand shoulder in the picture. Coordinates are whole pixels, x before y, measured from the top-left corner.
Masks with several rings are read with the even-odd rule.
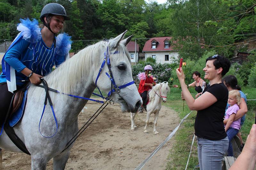
[[[36,42],[41,39],[41,29],[38,26],[38,21],[33,19],[20,19],[20,24],[17,26],[17,30],[21,32],[23,39],[28,42]]]

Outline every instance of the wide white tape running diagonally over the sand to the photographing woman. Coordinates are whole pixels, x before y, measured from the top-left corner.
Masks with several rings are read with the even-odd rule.
[[[143,162],[140,163],[140,165],[135,168],[135,170],[140,170],[148,161],[151,159],[155,153],[168,141],[172,138],[172,136],[176,133],[176,131],[179,129],[180,125],[184,122],[184,120],[189,116],[189,114],[192,112],[192,110],[180,121],[180,124],[172,131],[172,133],[162,142]]]

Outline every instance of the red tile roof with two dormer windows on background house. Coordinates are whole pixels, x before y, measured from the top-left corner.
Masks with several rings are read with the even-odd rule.
[[[169,48],[164,48],[164,41],[168,39],[171,40],[172,37],[154,37],[146,41],[142,51],[176,51],[173,46],[169,45]],[[156,40],[158,43],[156,44],[156,48],[152,48],[152,41]],[[177,43],[177,41],[173,41],[173,43]]]

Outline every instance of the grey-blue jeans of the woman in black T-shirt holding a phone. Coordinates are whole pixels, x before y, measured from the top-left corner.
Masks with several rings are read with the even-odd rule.
[[[197,138],[200,170],[221,170],[221,162],[228,151],[228,137],[221,140]]]

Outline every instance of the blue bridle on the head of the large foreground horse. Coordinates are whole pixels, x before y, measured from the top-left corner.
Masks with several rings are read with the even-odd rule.
[[[111,54],[117,54],[117,53],[120,53],[120,52],[119,52],[119,51],[115,51],[114,53],[111,53]],[[99,92],[100,92],[100,95],[97,95],[97,96],[100,96],[100,97],[102,97],[103,99],[109,99],[109,98],[112,96],[113,93],[119,93],[119,92],[120,92],[120,89],[123,89],[123,88],[125,88],[125,87],[127,87],[127,86],[130,86],[130,85],[134,84],[134,81],[131,81],[131,82],[129,82],[129,83],[127,83],[127,84],[124,84],[124,85],[121,85],[121,86],[119,86],[119,87],[116,85],[116,82],[115,82],[115,80],[114,80],[114,77],[113,77],[113,74],[112,74],[112,71],[111,71],[111,64],[110,64],[109,54],[110,54],[110,52],[109,52],[109,47],[107,46],[106,51],[104,52],[104,59],[103,59],[103,62],[102,62],[102,64],[101,64],[99,73],[98,73],[97,78],[96,78],[96,80],[95,80],[95,85],[96,85],[97,89],[98,89]],[[108,96],[107,96],[107,97],[103,97],[103,95],[102,95],[102,93],[101,93],[99,87],[97,86],[97,81],[98,81],[98,78],[99,78],[99,76],[100,76],[100,73],[101,73],[101,71],[102,71],[102,69],[103,69],[103,67],[104,67],[104,65],[105,65],[105,63],[106,63],[106,61],[107,61],[108,73],[109,73],[109,74],[108,74],[108,73],[106,72],[106,75],[108,76],[109,80],[111,81],[111,90],[108,92]],[[114,86],[114,88],[113,88],[113,86]],[[93,94],[94,94],[94,93],[93,93]],[[122,96],[119,95],[117,100],[119,100],[119,99],[121,99],[121,98],[122,98]],[[111,99],[110,101],[111,101],[111,102],[116,102],[117,100],[114,101],[113,99]]]

